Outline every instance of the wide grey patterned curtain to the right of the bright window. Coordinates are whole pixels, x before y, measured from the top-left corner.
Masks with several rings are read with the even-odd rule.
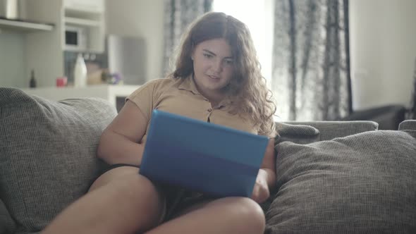
[[[283,121],[352,111],[348,37],[348,0],[275,1],[271,88]]]

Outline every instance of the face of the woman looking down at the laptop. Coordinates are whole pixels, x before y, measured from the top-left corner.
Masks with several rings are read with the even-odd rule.
[[[228,42],[219,38],[197,44],[192,61],[198,90],[208,99],[218,98],[233,76],[233,54]]]

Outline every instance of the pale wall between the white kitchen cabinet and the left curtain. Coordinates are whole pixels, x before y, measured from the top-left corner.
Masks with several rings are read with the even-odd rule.
[[[147,80],[163,77],[164,0],[106,0],[108,34],[145,38]]]

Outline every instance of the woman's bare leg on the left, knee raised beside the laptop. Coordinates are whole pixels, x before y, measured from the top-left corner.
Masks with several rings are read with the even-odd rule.
[[[159,224],[164,197],[138,168],[123,166],[100,176],[90,192],[65,209],[43,233],[135,233]]]

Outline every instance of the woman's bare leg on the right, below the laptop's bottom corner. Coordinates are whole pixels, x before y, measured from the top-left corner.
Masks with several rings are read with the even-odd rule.
[[[147,234],[158,233],[264,233],[262,208],[252,199],[226,197],[196,204],[181,216],[157,226]]]

